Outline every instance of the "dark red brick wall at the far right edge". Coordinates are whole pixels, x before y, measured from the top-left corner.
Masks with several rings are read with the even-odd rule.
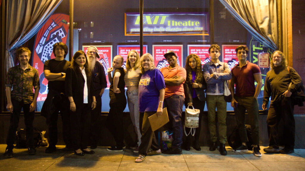
[[[305,83],[305,1],[292,0],[292,67]],[[290,55],[290,52],[289,52]],[[289,66],[290,63],[289,63]],[[305,114],[305,106],[295,107],[295,114]]]

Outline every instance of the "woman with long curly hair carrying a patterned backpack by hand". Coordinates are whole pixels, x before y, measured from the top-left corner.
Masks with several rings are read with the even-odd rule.
[[[193,142],[193,148],[200,151],[199,146],[199,134],[201,128],[201,119],[203,116],[203,110],[205,105],[206,81],[203,78],[201,60],[196,54],[190,54],[186,58],[185,62],[186,80],[184,83],[185,93],[185,107],[194,106],[195,109],[200,110],[199,114],[199,127],[195,128],[195,141]],[[190,128],[185,128],[186,132],[190,131]],[[190,150],[191,135],[186,137],[185,150]]]

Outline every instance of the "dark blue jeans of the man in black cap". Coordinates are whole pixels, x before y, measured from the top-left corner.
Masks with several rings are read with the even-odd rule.
[[[183,103],[184,97],[181,95],[173,95],[164,99],[163,107],[167,107],[169,124],[171,131],[173,131],[173,148],[179,148],[182,145],[183,126],[181,115]]]

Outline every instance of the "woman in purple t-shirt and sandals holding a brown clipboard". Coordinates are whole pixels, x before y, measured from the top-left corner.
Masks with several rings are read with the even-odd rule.
[[[144,54],[140,58],[140,64],[142,77],[139,82],[139,111],[142,142],[139,147],[139,156],[135,159],[137,163],[143,162],[146,155],[161,154],[159,143],[150,127],[148,117],[154,113],[161,116],[165,92],[163,75],[160,70],[155,68],[152,55]],[[152,148],[152,151],[148,151],[149,148]]]

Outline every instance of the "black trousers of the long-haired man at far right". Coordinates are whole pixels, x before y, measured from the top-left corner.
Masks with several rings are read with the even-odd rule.
[[[285,148],[294,148],[296,126],[293,111],[294,105],[291,97],[283,97],[280,101],[271,102],[267,116],[269,146],[278,148],[278,123],[281,119],[283,119],[283,137]]]

